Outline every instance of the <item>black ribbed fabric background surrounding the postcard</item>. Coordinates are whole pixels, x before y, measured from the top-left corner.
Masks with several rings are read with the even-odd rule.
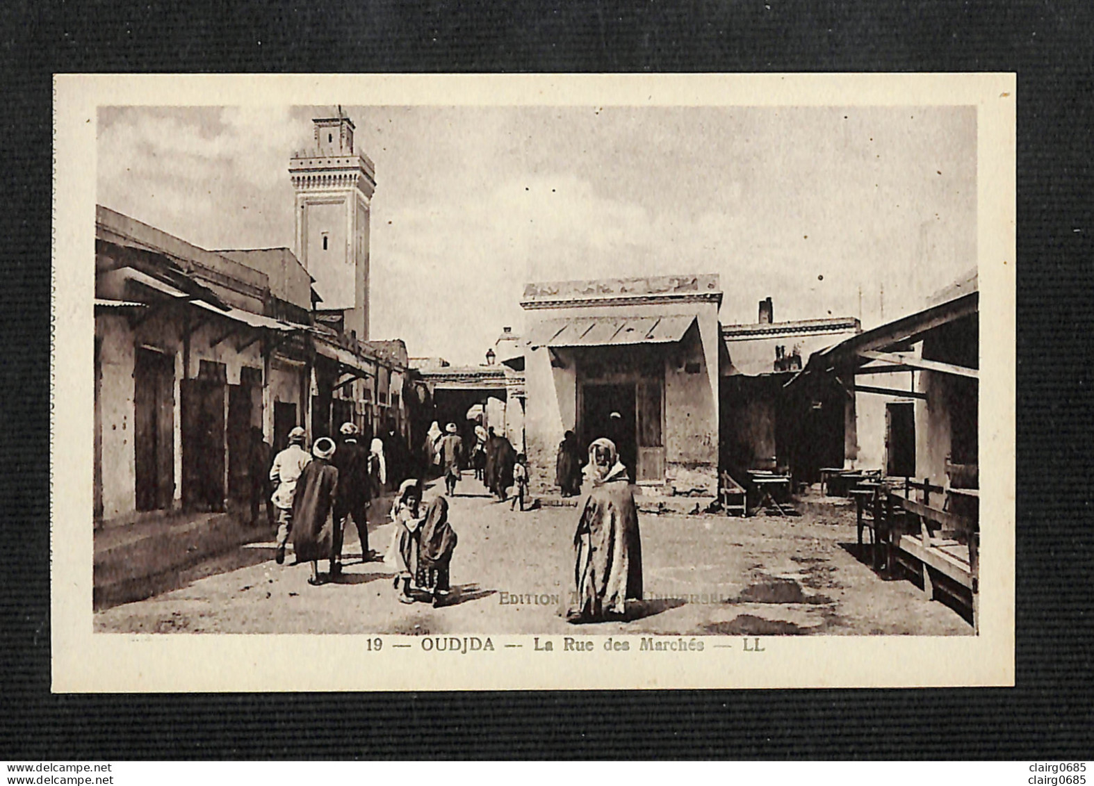
[[[1085,3],[9,0],[0,20],[0,759],[1092,758]],[[77,71],[1016,71],[1017,687],[50,695],[50,74]]]

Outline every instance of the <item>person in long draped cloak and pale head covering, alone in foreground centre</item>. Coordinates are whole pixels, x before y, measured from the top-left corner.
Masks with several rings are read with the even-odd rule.
[[[638,508],[610,439],[589,446],[585,473],[592,488],[573,535],[575,603],[566,618],[574,623],[622,617],[627,600],[642,599]]]

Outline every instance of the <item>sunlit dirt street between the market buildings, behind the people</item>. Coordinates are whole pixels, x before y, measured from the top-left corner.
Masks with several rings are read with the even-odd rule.
[[[202,566],[175,591],[95,614],[101,632],[573,633],[574,508],[520,513],[465,476],[450,519],[459,536],[443,608],[396,601],[392,571],[361,563],[356,536],[338,583],[310,586],[307,565],[277,565],[274,542]],[[438,493],[427,490],[427,500]],[[970,635],[971,626],[907,580],[883,580],[857,556],[853,511],[801,517],[639,517],[645,600],[629,619],[581,633]],[[389,524],[371,528],[383,551]],[[350,527],[352,531],[352,527]],[[290,554],[291,561],[291,554]]]

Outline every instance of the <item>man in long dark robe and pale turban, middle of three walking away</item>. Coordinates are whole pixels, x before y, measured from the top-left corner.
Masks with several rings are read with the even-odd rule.
[[[338,470],[330,464],[335,455],[335,441],[319,437],[312,447],[314,458],[304,467],[296,481],[292,501],[292,548],[296,562],[311,562],[312,576],[307,583],[323,584],[319,578],[319,560],[330,560],[335,573],[334,513],[338,494]]]

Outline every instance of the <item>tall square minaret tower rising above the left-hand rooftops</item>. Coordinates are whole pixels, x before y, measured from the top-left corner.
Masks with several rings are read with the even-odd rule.
[[[376,187],[369,156],[353,152],[353,121],[315,118],[315,146],[289,161],[296,191],[296,258],[315,279],[325,312],[369,338],[369,204]]]

